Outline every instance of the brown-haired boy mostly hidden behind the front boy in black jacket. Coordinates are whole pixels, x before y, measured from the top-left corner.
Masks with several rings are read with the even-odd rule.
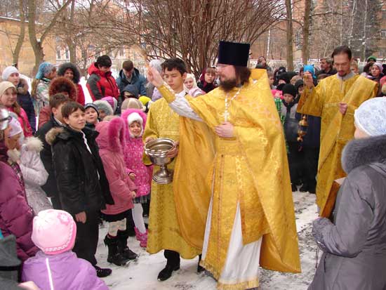
[[[51,145],[46,141],[46,133],[50,131],[51,128],[63,126],[62,106],[67,102],[69,102],[69,98],[61,93],[52,95],[50,99],[50,106],[52,108],[51,119],[36,132],[36,137],[43,142],[43,150],[40,152],[40,158],[44,164],[44,168],[48,172],[47,182],[41,188],[46,192],[47,197],[51,198],[54,209],[62,209],[62,205],[60,204],[58,187],[53,171]]]

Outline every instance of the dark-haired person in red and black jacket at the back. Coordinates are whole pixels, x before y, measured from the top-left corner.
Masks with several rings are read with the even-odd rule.
[[[119,90],[111,70],[112,60],[109,55],[101,55],[90,67],[88,67],[87,88],[91,98],[100,100],[105,97],[113,97],[118,100]]]

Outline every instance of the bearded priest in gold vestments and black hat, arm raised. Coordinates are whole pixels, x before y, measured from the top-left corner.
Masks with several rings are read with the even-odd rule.
[[[204,237],[204,229],[183,214],[192,212],[195,200],[180,197],[178,223],[189,243],[203,243],[201,265],[218,280],[218,289],[258,287],[259,264],[300,272],[283,128],[267,73],[250,78],[248,54],[249,44],[220,41],[220,88],[197,98],[175,95],[156,70],[147,76],[184,116],[175,190],[188,198],[211,196]],[[211,144],[213,157],[205,154]]]

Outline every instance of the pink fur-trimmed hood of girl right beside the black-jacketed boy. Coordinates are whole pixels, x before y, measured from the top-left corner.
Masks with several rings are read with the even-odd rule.
[[[95,125],[95,130],[99,133],[96,141],[101,150],[124,154],[126,126],[123,119],[114,118],[111,121],[101,121]]]

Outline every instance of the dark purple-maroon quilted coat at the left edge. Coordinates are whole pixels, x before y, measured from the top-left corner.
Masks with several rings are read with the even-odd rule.
[[[31,240],[34,213],[27,204],[25,190],[15,171],[6,163],[4,143],[0,143],[0,230],[4,237],[15,235],[18,258],[34,256],[38,249]]]

